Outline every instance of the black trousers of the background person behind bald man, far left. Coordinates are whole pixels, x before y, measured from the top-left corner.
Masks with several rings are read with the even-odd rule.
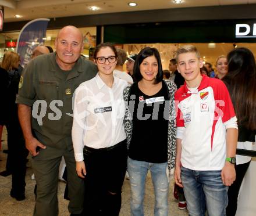
[[[8,159],[6,168],[12,172],[13,193],[25,192],[26,159],[29,151],[26,149],[22,129],[17,119],[9,120],[6,124]]]

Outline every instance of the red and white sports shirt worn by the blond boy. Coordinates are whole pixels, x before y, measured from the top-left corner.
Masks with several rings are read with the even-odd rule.
[[[237,128],[237,118],[226,85],[202,76],[196,89],[184,84],[175,93],[177,138],[182,139],[183,167],[222,170],[226,159],[226,129]]]

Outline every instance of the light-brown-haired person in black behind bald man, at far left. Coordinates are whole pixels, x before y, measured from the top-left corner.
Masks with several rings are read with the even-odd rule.
[[[25,199],[25,175],[26,162],[29,152],[25,147],[22,134],[22,128],[17,116],[17,105],[15,103],[18,93],[20,74],[19,69],[20,56],[15,52],[6,52],[3,56],[1,67],[8,71],[8,88],[6,100],[2,106],[5,106],[5,126],[7,129],[8,157],[6,162],[6,171],[12,174],[12,189],[10,196],[16,200]]]

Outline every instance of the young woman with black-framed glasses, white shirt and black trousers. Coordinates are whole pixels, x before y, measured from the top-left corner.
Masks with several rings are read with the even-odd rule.
[[[127,166],[123,126],[127,82],[113,77],[115,46],[100,44],[94,62],[98,74],[75,92],[72,139],[76,171],[84,178],[85,215],[119,215]]]

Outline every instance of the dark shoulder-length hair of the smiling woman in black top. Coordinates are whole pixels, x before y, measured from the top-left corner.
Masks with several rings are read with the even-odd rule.
[[[155,58],[157,59],[158,73],[157,73],[157,77],[155,78],[155,84],[158,84],[158,82],[161,82],[163,79],[163,70],[162,70],[161,57],[156,48],[145,47],[145,48],[141,49],[141,51],[140,51],[140,53],[138,53],[138,56],[134,63],[133,75],[134,75],[134,78],[136,79],[136,81],[140,81],[143,78],[140,73],[140,64],[143,62],[143,60],[146,57],[149,57],[149,56],[155,56]]]

